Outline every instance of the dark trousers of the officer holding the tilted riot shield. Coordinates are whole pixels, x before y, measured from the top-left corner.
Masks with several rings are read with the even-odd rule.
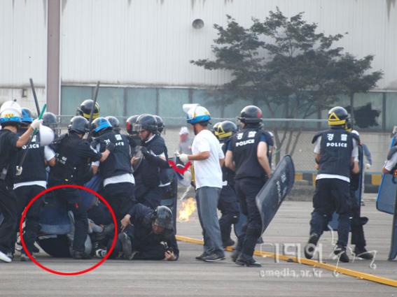
[[[262,189],[266,180],[242,178],[236,180],[235,188],[240,202],[240,209],[246,215],[246,224],[239,234],[237,251],[242,253],[243,259],[251,259],[256,242],[262,231],[262,219],[256,206],[256,195]]]

